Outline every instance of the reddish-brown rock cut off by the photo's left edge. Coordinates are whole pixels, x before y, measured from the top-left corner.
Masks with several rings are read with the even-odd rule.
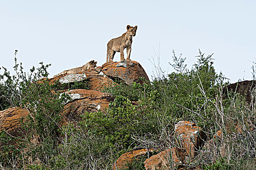
[[[12,107],[0,111],[0,130],[6,130],[13,136],[16,136],[17,128],[20,126],[20,120],[28,116],[25,108]]]

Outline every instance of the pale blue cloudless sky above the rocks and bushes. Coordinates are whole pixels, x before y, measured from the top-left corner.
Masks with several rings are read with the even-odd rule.
[[[0,66],[12,68],[16,49],[26,70],[51,63],[50,77],[93,59],[101,66],[107,42],[129,24],[138,26],[131,59],[149,77],[153,49],[171,72],[172,50],[187,57],[191,68],[200,48],[214,53],[216,70],[232,83],[250,80],[255,18],[255,0],[0,0]],[[119,53],[114,61],[120,61]]]

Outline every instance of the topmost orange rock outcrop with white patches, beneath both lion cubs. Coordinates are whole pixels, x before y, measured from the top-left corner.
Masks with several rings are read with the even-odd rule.
[[[74,74],[65,74],[49,79],[52,84],[59,82],[61,84],[70,84],[86,80],[88,89],[101,91],[106,86],[114,85],[119,82],[125,82],[131,85],[132,82],[139,82],[140,77],[149,81],[149,77],[142,66],[136,61],[108,62],[102,67],[86,70]]]

